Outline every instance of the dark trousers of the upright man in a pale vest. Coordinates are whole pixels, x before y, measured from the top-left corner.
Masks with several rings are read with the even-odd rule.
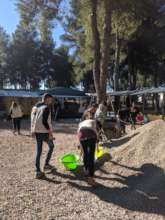
[[[53,149],[54,149],[54,143],[53,143],[53,140],[49,139],[49,134],[47,133],[36,133],[36,141],[37,141],[37,152],[36,152],[35,165],[36,165],[36,172],[40,172],[40,158],[42,154],[43,142],[46,142],[49,147],[46,160],[45,160],[45,165],[49,164],[49,161],[51,159]]]

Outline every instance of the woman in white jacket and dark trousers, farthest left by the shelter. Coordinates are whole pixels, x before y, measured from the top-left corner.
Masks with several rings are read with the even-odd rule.
[[[12,102],[12,105],[10,107],[10,116],[13,121],[13,133],[15,134],[16,131],[18,131],[18,135],[20,135],[21,118],[23,116],[23,112],[20,105],[16,102]]]

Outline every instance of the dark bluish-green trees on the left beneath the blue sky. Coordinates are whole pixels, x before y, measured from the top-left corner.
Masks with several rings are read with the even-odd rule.
[[[1,87],[38,89],[74,83],[72,60],[64,48],[55,50],[52,37],[61,0],[17,0],[20,23],[10,43],[0,28]]]

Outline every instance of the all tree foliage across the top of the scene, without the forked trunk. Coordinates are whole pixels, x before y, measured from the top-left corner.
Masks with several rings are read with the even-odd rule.
[[[68,48],[55,49],[52,31],[61,19],[62,0],[17,0],[20,23],[10,39],[0,27],[0,87],[39,88],[70,86],[82,82],[93,85],[94,42],[89,0],[70,0],[63,16]],[[165,13],[164,0],[111,0],[109,79],[114,84],[118,71],[120,88],[164,84]],[[97,22],[103,44],[104,7],[98,0]],[[71,49],[71,50],[70,50]],[[69,55],[72,51],[72,56]]]

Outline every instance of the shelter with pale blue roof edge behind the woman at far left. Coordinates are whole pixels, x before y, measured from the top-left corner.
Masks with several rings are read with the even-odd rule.
[[[3,89],[0,90],[0,116],[8,115],[12,101],[18,102],[24,115],[30,114],[32,106],[40,99],[38,92],[26,90]]]

